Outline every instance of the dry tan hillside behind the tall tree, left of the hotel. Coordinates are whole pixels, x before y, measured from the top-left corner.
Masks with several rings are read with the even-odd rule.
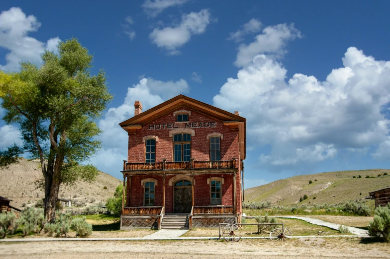
[[[39,163],[23,158],[19,163],[0,170],[0,196],[12,199],[10,204],[17,208],[21,208],[23,203],[27,206],[33,204],[44,197],[43,191],[37,190],[33,184],[39,178],[43,178]],[[121,183],[119,179],[99,172],[92,184],[80,182],[73,187],[62,185],[58,196],[87,204],[105,202],[108,197],[113,196],[115,188]],[[103,189],[104,186],[107,189]]]

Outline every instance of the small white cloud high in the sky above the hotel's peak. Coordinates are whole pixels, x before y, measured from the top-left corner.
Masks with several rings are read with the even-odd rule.
[[[170,55],[178,55],[179,47],[190,41],[192,35],[204,33],[210,23],[211,15],[207,9],[183,14],[180,24],[174,27],[155,28],[149,35],[154,44],[164,48]]]

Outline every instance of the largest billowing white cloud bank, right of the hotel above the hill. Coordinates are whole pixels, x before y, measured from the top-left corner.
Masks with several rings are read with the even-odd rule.
[[[283,50],[282,50],[283,51]],[[379,146],[374,158],[389,159],[390,62],[348,48],[343,67],[325,81],[294,74],[266,55],[228,78],[215,106],[240,111],[248,122],[248,142],[271,146],[259,161],[283,168],[331,159],[340,150]]]

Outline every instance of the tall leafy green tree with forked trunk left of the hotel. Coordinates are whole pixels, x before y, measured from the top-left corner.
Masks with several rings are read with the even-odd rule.
[[[83,165],[101,146],[95,139],[101,131],[95,122],[112,95],[105,73],[91,75],[92,55],[77,39],[58,45],[58,55],[45,51],[38,67],[21,63],[17,73],[0,70],[1,107],[6,124],[17,125],[23,146],[0,152],[0,166],[17,161],[23,152],[39,158],[45,191],[45,216],[54,222],[61,184],[93,181],[98,174]]]

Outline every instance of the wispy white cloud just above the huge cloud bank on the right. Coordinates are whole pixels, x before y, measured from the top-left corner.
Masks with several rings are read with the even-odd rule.
[[[293,24],[278,24],[263,29],[263,33],[255,37],[249,45],[241,44],[238,47],[236,66],[245,67],[252,63],[253,57],[258,54],[268,54],[282,57],[286,53],[286,44],[295,38],[301,38],[300,31]]]

